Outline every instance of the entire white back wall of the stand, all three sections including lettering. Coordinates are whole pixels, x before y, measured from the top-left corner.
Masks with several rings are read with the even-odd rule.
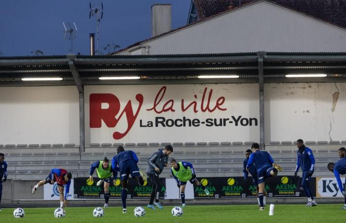
[[[264,92],[265,143],[346,140],[345,83]],[[0,113],[0,144],[79,145],[75,86],[0,87]],[[259,141],[258,84],[85,86],[85,115],[86,145]]]

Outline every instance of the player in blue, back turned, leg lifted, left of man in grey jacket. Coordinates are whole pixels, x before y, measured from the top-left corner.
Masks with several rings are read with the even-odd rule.
[[[123,203],[123,213],[127,213],[126,197],[128,192],[129,174],[131,174],[132,178],[135,178],[141,186],[143,186],[144,184],[144,179],[147,179],[147,175],[143,171],[139,171],[137,163],[138,158],[133,151],[125,151],[124,147],[118,146],[117,155],[114,156],[112,160],[112,168],[114,168],[115,170],[120,170],[120,180],[122,185],[121,200]],[[119,168],[117,166],[119,166]]]

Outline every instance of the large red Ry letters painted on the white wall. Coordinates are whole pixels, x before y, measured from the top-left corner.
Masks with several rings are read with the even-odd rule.
[[[123,111],[121,111],[118,118],[115,116],[120,112],[120,101],[117,96],[113,94],[90,94],[89,102],[90,102],[90,128],[100,128],[101,120],[107,125],[107,127],[113,128],[115,127],[120,119],[123,117],[124,113],[126,114],[128,128],[125,132],[114,132],[114,139],[121,139],[130,131],[134,121],[137,118],[140,108],[143,104],[143,95],[137,94],[136,100],[139,103],[139,106],[135,113],[132,109],[131,101],[126,104]],[[107,109],[102,109],[101,104],[107,103],[109,107]]]

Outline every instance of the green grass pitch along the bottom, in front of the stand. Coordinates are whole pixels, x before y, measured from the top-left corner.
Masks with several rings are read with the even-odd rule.
[[[133,215],[134,207],[128,207],[123,214],[121,207],[105,209],[102,218],[92,216],[93,207],[65,208],[66,217],[54,218],[54,208],[25,208],[22,219],[13,217],[14,208],[3,208],[0,212],[1,223],[341,223],[345,222],[346,210],[342,204],[317,205],[275,205],[274,216],[269,216],[269,205],[259,211],[255,205],[188,205],[181,217],[173,217],[173,206],[163,210],[145,208],[144,217]]]

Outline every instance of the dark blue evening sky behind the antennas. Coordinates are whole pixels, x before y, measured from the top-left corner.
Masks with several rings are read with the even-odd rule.
[[[125,48],[150,38],[150,7],[172,4],[172,28],[186,25],[191,0],[92,0],[103,2],[99,50],[107,44]],[[89,54],[89,33],[96,32],[96,18],[89,19],[89,0],[6,0],[0,3],[2,56],[66,55],[71,41],[63,39],[62,22],[75,22],[73,52]],[[104,52],[105,53],[105,52]]]

